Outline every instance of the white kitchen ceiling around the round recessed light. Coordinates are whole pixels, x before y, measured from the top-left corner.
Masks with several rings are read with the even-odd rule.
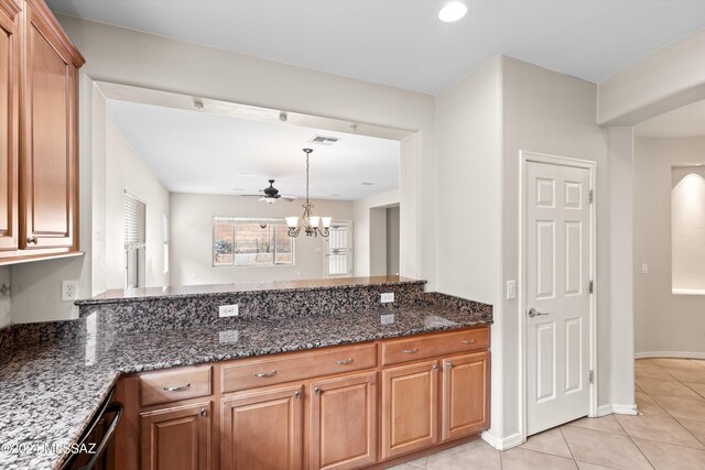
[[[705,28],[702,0],[47,0],[55,12],[437,94],[496,54],[600,81]]]

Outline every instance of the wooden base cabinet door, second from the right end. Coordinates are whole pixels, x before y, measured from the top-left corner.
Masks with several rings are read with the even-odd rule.
[[[382,458],[438,440],[438,361],[382,371]]]

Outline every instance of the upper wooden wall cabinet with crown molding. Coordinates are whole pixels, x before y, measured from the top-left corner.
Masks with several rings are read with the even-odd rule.
[[[85,61],[42,0],[0,0],[0,264],[78,252]]]

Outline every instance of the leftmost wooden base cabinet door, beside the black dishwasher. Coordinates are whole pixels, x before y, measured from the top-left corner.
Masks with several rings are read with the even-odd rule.
[[[140,413],[142,470],[210,468],[210,402]]]

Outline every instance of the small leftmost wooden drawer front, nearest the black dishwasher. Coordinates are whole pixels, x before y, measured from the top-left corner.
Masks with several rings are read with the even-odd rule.
[[[186,368],[140,376],[142,406],[210,395],[210,365]]]

